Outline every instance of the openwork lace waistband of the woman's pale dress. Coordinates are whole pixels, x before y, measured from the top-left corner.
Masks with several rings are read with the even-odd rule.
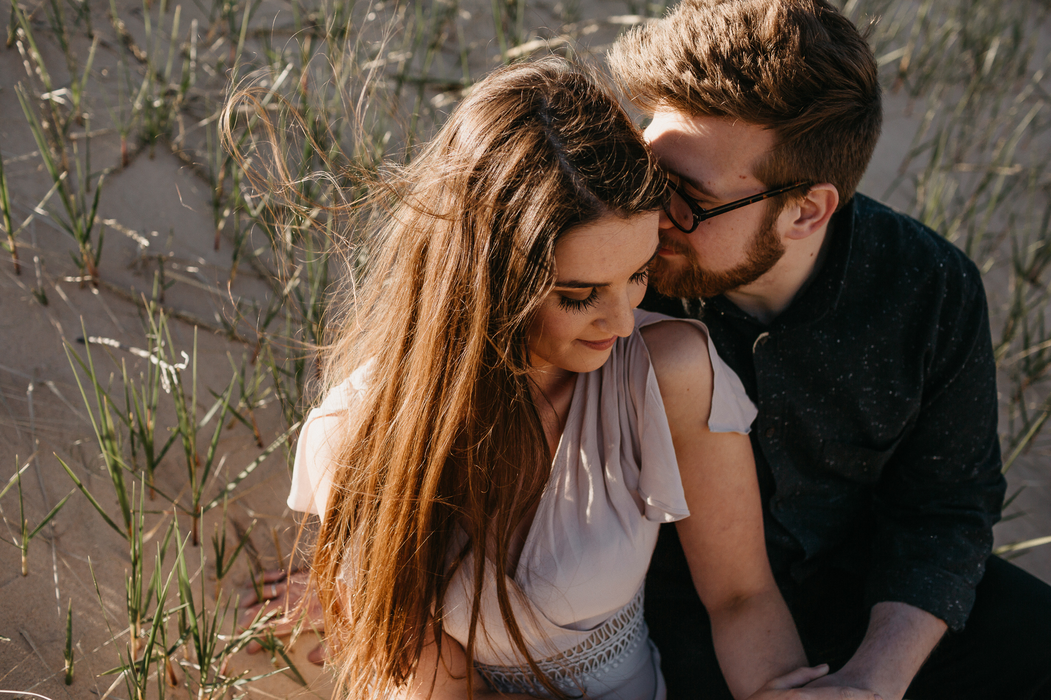
[[[640,588],[631,602],[573,649],[537,661],[540,672],[556,687],[578,693],[583,690],[584,676],[599,676],[620,665],[647,636],[642,618],[642,592]],[[476,662],[475,667],[494,691],[547,695],[529,665],[494,666]]]

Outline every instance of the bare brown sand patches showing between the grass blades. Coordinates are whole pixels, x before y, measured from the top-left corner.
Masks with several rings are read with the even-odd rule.
[[[133,4],[133,3],[132,3]],[[123,5],[122,5],[123,6]],[[625,3],[598,1],[581,3],[581,15],[605,17],[628,14]],[[476,7],[481,17],[488,3]],[[260,16],[266,15],[264,3]],[[270,8],[271,14],[279,5]],[[184,7],[184,22],[198,10]],[[142,36],[141,12],[130,13],[129,30]],[[95,24],[104,36],[111,28],[101,8],[95,13]],[[198,13],[199,17],[203,16]],[[541,17],[538,25],[550,21]],[[184,24],[185,26],[185,24]],[[471,23],[470,31],[477,37],[486,33],[483,23]],[[583,38],[596,47],[609,42],[618,30],[603,25]],[[83,41],[81,37],[77,41]],[[61,66],[61,56],[50,42],[42,42],[49,65]],[[493,65],[495,50],[479,50],[476,62],[480,70]],[[115,71],[116,54],[112,46],[102,48],[96,70]],[[57,69],[58,70],[58,69]],[[7,166],[7,176],[14,189],[16,211],[27,215],[35,197],[46,192],[47,175],[39,167],[37,157],[19,158],[32,153],[36,146],[15,99],[14,86],[23,81],[21,58],[15,49],[0,49],[0,149]],[[61,82],[61,81],[59,81]],[[116,89],[110,84],[110,90]],[[110,92],[109,94],[112,94]],[[100,99],[95,106],[92,129],[108,128],[106,104]],[[874,161],[861,191],[880,196],[897,174],[898,165],[911,141],[919,116],[909,114],[910,105],[901,96],[890,96],[887,104],[887,123]],[[188,142],[191,140],[188,140]],[[119,162],[119,142],[116,133],[97,136],[91,144],[91,157],[96,164],[114,165]],[[103,167],[97,165],[96,168]],[[230,295],[262,299],[266,287],[254,277],[247,264],[239,269],[235,281],[227,289],[229,277],[230,242],[224,239],[220,251],[212,250],[213,225],[207,185],[185,160],[173,155],[162,143],[152,155],[139,152],[131,164],[114,172],[106,179],[100,213],[103,218],[116,219],[126,229],[135,230],[149,241],[143,250],[132,238],[117,230],[106,230],[105,249],[100,269],[108,285],[138,295],[148,291],[156,256],[165,256],[166,270],[179,277],[168,290],[166,303],[213,326],[222,325],[221,318],[228,314]],[[907,208],[903,195],[891,198],[889,204]],[[22,235],[21,256],[24,264],[21,276],[12,274],[12,267],[0,261],[0,474],[3,482],[13,472],[16,455],[24,461],[36,454],[34,464],[24,474],[26,510],[30,523],[39,519],[59,499],[69,492],[70,480],[62,470],[55,454],[61,457],[95,493],[105,495],[102,505],[116,513],[107,478],[102,469],[98,448],[87,421],[63,342],[73,343],[75,352],[83,353],[76,339],[88,335],[115,339],[125,345],[142,347],[142,318],[140,309],[125,295],[109,287],[82,288],[76,281],[78,272],[68,252],[75,250],[71,240],[44,219]],[[41,261],[41,279],[48,304],[41,305],[34,297],[36,274],[33,257]],[[152,258],[144,257],[152,256]],[[987,282],[993,317],[1000,313],[1005,299],[1003,276],[991,275]],[[173,341],[180,349],[189,349],[193,328],[189,323],[172,320]],[[222,390],[230,378],[230,359],[240,365],[246,352],[243,343],[221,334],[201,330],[198,336],[200,383],[202,387]],[[96,361],[109,372],[116,372],[120,361],[141,368],[141,360],[118,351],[94,348]],[[110,360],[112,358],[112,360]],[[202,389],[204,390],[204,389]],[[210,404],[210,401],[202,401]],[[170,411],[169,411],[170,412]],[[269,443],[284,429],[280,409],[270,402],[256,411],[264,441]],[[162,415],[162,420],[171,416]],[[170,424],[170,423],[169,423]],[[1025,491],[1011,506],[1009,513],[1025,515],[997,526],[996,544],[1015,542],[1051,533],[1051,480],[1045,466],[1047,443],[1038,442],[1009,473],[1011,492],[1018,486]],[[163,468],[158,470],[157,486],[168,493],[180,493],[186,486],[185,465],[180,462],[178,447],[172,450]],[[219,454],[224,460],[217,484],[232,478],[261,452],[251,433],[241,425],[224,430]],[[244,527],[257,521],[251,536],[255,564],[272,568],[287,564],[288,554],[296,535],[296,519],[284,505],[289,484],[289,463],[283,450],[275,451],[267,462],[246,479],[229,504],[228,517]],[[215,492],[217,485],[212,486]],[[149,502],[148,502],[149,503]],[[9,493],[0,500],[0,507],[8,523],[18,517],[17,499]],[[166,504],[158,499],[148,508],[163,510]],[[153,524],[163,523],[168,515],[154,515]],[[210,555],[208,538],[220,517],[219,509],[207,514],[202,524],[203,547]],[[182,518],[184,530],[186,519]],[[228,526],[233,536],[232,523]],[[8,537],[4,528],[0,535]],[[163,527],[157,532],[163,532]],[[147,544],[152,552],[157,534]],[[279,548],[282,558],[279,560]],[[189,561],[198,560],[192,550]],[[1051,582],[1051,546],[1035,549],[1017,559],[1017,564],[1033,574]],[[125,543],[102,522],[91,506],[79,494],[74,495],[55,519],[54,529],[45,530],[33,540],[29,552],[30,573],[19,573],[18,552],[0,545],[0,688],[32,691],[49,698],[89,698],[99,700],[107,693],[112,676],[98,674],[117,665],[115,650],[127,640],[124,617],[124,573],[129,567]],[[197,567],[192,567],[193,570]],[[94,572],[94,574],[92,574]],[[192,571],[191,571],[192,574]],[[92,582],[98,581],[98,589]],[[210,576],[213,568],[206,566],[195,574],[195,586],[203,584],[210,591],[214,584]],[[247,569],[241,563],[228,577],[229,581],[246,586]],[[210,595],[210,593],[208,593]],[[101,600],[100,600],[101,598]],[[66,686],[61,682],[65,640],[65,611],[71,602],[74,640],[76,649],[76,681]],[[122,621],[124,620],[124,621]],[[122,630],[124,632],[122,632]],[[116,635],[116,640],[111,638]],[[310,694],[327,697],[327,676],[306,661],[312,649],[312,634],[307,634],[292,652],[297,667],[311,681]],[[249,657],[240,654],[236,664],[252,674],[272,669],[265,654]],[[184,697],[185,690],[171,692],[173,697]],[[271,677],[253,684],[249,697],[285,698],[307,693],[284,675]],[[125,698],[126,691],[119,684],[109,695]]]

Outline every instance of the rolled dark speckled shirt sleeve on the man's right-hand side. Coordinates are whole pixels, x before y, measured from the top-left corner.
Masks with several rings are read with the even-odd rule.
[[[925,358],[921,409],[873,497],[870,603],[906,602],[963,629],[992,549],[1006,482],[996,367],[977,270],[949,284]]]

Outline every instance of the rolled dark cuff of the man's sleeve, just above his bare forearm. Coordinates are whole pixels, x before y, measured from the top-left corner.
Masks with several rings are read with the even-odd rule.
[[[975,580],[982,579],[985,561]],[[974,587],[963,577],[927,564],[897,563],[872,571],[865,587],[868,607],[904,602],[943,620],[953,632],[967,623],[974,606]]]

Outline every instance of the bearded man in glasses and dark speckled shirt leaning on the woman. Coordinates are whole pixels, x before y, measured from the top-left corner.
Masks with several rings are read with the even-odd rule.
[[[812,685],[1051,698],[1051,587],[989,556],[1005,482],[981,276],[854,194],[882,122],[864,38],[824,0],[685,0],[610,62],[675,189],[643,306],[702,316],[759,407],[767,554],[833,671]],[[667,526],[645,606],[669,699],[730,697]]]

